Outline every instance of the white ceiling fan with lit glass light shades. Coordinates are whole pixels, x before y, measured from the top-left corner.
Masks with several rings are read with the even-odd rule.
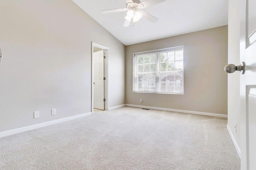
[[[149,6],[159,4],[161,2],[164,2],[166,0],[146,0],[144,2],[140,2],[140,0],[125,0],[127,3],[126,8],[119,8],[119,9],[113,9],[113,10],[103,10],[101,11],[102,14],[108,14],[113,12],[123,12],[127,11],[127,16],[125,17],[124,27],[128,27],[131,22],[137,22],[139,21],[142,16],[151,21],[151,22],[157,22],[158,19],[147,12],[141,10],[143,8],[147,8]]]

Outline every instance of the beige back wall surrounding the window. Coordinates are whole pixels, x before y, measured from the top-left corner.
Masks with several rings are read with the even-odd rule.
[[[184,95],[132,92],[133,53],[181,45]],[[227,114],[227,61],[228,26],[126,46],[126,104]]]

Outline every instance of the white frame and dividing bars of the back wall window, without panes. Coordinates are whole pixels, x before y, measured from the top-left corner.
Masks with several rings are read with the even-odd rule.
[[[174,92],[160,92],[160,86],[157,86],[157,84],[161,84],[160,81],[160,74],[163,73],[163,71],[160,71],[160,68],[158,68],[158,70],[156,70],[156,92],[152,92],[152,91],[135,91],[135,72],[136,72],[136,62],[135,62],[135,57],[138,55],[147,55],[147,54],[153,54],[156,53],[157,54],[157,58],[158,58],[158,64],[160,66],[160,53],[161,52],[169,52],[169,51],[178,51],[178,50],[183,50],[183,60],[179,60],[179,61],[183,61],[183,93],[174,93]],[[152,93],[152,94],[178,94],[178,95],[184,95],[184,46],[178,46],[178,47],[170,47],[170,48],[165,48],[165,49],[158,49],[158,50],[152,50],[152,51],[144,51],[144,52],[139,52],[139,53],[133,53],[133,69],[132,69],[132,92],[134,93]],[[174,61],[176,62],[176,61]],[[138,66],[138,64],[137,64]],[[159,71],[159,72],[158,72]],[[164,73],[168,73],[168,72],[181,72],[180,70],[175,70],[175,71],[166,71]],[[140,73],[140,74],[145,74],[145,73]],[[146,73],[146,74],[152,74],[152,73]],[[157,75],[158,74],[158,75]],[[138,76],[138,73],[137,73]],[[176,82],[174,82],[176,84]],[[180,82],[181,84],[181,82]],[[175,88],[175,86],[174,86]]]

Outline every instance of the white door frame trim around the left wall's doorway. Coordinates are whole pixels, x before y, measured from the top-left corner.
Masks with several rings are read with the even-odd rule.
[[[98,43],[95,43],[92,41],[92,114],[93,114],[93,104],[94,104],[94,85],[93,85],[93,80],[94,80],[94,55],[93,55],[93,51],[94,51],[94,47],[98,47],[100,49],[103,49],[106,51],[105,55],[106,55],[106,60],[105,60],[105,64],[104,64],[104,74],[106,77],[106,80],[104,82],[104,93],[105,93],[105,110],[108,110],[109,108],[109,102],[108,102],[108,57],[109,57],[109,48],[104,46],[104,45],[100,45]]]

